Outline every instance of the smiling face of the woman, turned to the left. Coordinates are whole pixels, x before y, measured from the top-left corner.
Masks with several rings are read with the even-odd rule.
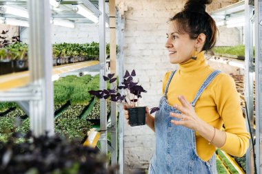
[[[190,39],[189,34],[179,34],[177,22],[171,21],[168,28],[168,41],[165,47],[168,48],[170,63],[185,63],[196,50],[196,39]]]

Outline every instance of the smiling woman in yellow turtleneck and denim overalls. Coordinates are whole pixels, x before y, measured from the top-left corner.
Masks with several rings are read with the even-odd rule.
[[[209,67],[203,56],[216,42],[216,24],[205,12],[210,3],[189,0],[170,19],[165,47],[170,63],[178,63],[179,69],[165,74],[160,110],[155,117],[146,116],[156,133],[150,174],[217,173],[216,148],[235,156],[248,149],[250,137],[234,80]]]

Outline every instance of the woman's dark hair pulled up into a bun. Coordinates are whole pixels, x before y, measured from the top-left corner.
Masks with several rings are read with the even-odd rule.
[[[205,44],[202,50],[210,50],[216,43],[216,23],[205,12],[205,4],[212,0],[188,0],[184,10],[177,13],[170,21],[177,22],[177,30],[181,34],[189,34],[190,39],[196,39],[199,34],[205,34]]]

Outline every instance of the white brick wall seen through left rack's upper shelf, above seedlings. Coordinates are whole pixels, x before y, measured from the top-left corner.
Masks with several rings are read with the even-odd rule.
[[[105,42],[109,43],[109,29],[105,30]],[[75,28],[52,25],[52,43],[90,43],[99,42],[99,26],[96,24],[77,23]],[[23,42],[28,43],[28,28],[21,33]]]

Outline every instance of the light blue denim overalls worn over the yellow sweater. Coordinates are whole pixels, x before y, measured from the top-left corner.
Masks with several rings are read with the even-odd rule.
[[[159,111],[154,118],[154,129],[156,133],[156,151],[151,159],[149,174],[216,174],[216,154],[205,162],[196,153],[195,131],[187,127],[177,126],[170,120],[180,120],[170,117],[170,112],[181,113],[179,110],[168,105],[166,95],[168,86],[174,73],[170,76],[165,87],[164,96],[160,100]],[[219,74],[219,70],[212,72],[205,79],[197,92],[192,107],[196,104],[206,87]]]

